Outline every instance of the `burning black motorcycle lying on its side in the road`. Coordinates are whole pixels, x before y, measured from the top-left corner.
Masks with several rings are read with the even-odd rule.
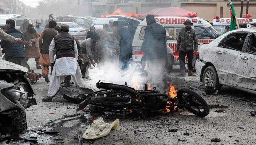
[[[148,90],[146,84],[144,90],[136,90],[126,84],[117,85],[101,81],[96,83],[96,86],[104,90],[88,94],[79,104],[77,111],[91,104],[91,111],[94,112],[122,112],[125,109],[125,113],[138,112],[142,117],[146,117],[149,112],[170,112],[178,108],[185,108],[199,117],[205,117],[210,112],[207,102],[189,88],[180,88],[177,94],[168,95],[160,94],[155,87]]]

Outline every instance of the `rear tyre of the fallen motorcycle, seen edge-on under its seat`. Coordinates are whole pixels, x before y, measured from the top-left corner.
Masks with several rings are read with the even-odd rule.
[[[92,103],[128,103],[130,102],[129,97],[104,97],[104,96],[93,96],[91,97]]]

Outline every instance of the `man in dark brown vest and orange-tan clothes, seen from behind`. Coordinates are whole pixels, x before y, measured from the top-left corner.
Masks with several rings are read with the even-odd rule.
[[[49,66],[51,66],[49,58],[49,46],[54,36],[58,35],[58,31],[54,29],[56,25],[57,23],[55,21],[50,21],[49,28],[44,29],[38,39],[39,49],[41,53],[39,63],[42,65],[42,76],[45,79],[46,83],[49,82]]]

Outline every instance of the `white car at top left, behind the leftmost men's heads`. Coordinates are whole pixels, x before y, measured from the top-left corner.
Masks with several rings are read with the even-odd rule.
[[[5,30],[5,21],[8,19],[15,20],[15,28],[20,31],[20,26],[24,22],[24,19],[27,19],[30,24],[33,24],[32,19],[28,18],[28,16],[21,14],[0,14],[0,28]]]

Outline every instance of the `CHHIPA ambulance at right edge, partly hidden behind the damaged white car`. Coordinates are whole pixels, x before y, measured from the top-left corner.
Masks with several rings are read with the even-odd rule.
[[[236,23],[239,24],[239,28],[250,28],[253,26],[253,23],[256,22],[256,19],[250,18],[251,15],[244,15],[244,18],[237,18]],[[230,18],[219,18],[215,16],[212,20],[213,28],[220,33],[220,35],[226,33],[225,26],[230,25]],[[237,28],[237,26],[236,26]]]

